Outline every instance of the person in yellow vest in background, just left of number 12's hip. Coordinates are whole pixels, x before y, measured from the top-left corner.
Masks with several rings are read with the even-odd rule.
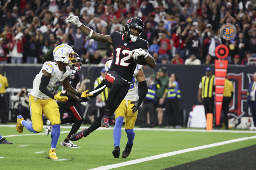
[[[94,88],[96,88],[102,80],[105,78],[105,69],[102,68],[100,70],[100,77],[98,77],[95,82],[94,82]],[[106,100],[108,99],[108,94],[109,94],[109,88],[105,88],[105,90],[99,94],[96,97],[96,106],[98,107],[97,109],[97,115],[99,116],[103,111],[104,111],[104,106],[106,105]]]

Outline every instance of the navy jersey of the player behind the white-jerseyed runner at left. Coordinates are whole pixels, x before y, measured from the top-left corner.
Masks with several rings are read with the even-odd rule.
[[[71,74],[68,77],[69,79],[69,84],[76,89],[76,91],[78,90],[79,86],[80,86],[80,75],[79,72],[77,72],[76,70],[71,69]],[[60,96],[68,96],[67,95],[67,90],[65,88],[63,88],[62,86],[62,94]],[[74,105],[77,101],[69,98],[69,100],[67,102],[62,102],[61,104],[68,104],[68,105]]]

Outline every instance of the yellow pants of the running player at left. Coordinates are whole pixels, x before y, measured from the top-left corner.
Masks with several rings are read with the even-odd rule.
[[[30,116],[33,129],[37,132],[43,130],[42,114],[51,121],[52,124],[60,124],[59,106],[53,99],[38,99],[29,96]]]

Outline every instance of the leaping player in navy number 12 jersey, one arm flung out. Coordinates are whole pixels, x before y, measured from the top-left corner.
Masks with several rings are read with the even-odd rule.
[[[129,90],[137,64],[134,60],[143,56],[148,66],[156,67],[154,58],[147,51],[148,42],[140,38],[144,23],[140,18],[131,17],[125,24],[125,34],[114,31],[111,35],[103,35],[86,27],[77,16],[70,15],[67,22],[76,25],[89,38],[113,45],[113,62],[106,73],[105,81],[102,81],[110,88],[105,113],[101,119],[101,126],[108,128],[109,116],[117,109]]]

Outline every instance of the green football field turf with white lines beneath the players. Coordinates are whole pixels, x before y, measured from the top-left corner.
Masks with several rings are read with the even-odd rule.
[[[56,148],[58,158],[65,160],[54,161],[48,159],[50,135],[33,134],[25,128],[19,134],[14,124],[0,125],[0,134],[13,142],[12,145],[0,144],[0,169],[164,169],[256,144],[256,131],[136,128],[133,149],[125,159],[121,154],[127,137],[122,130],[121,154],[115,159],[113,128],[100,128],[75,141],[79,148],[61,147],[70,127],[61,126]]]

